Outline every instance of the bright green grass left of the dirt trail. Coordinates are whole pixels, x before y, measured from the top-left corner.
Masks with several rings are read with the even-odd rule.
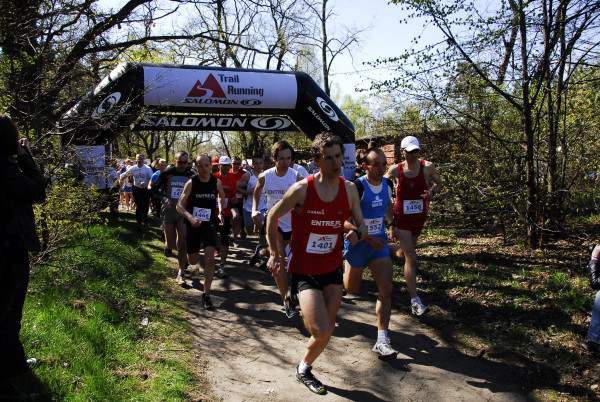
[[[41,399],[189,400],[199,386],[158,232],[140,240],[133,215],[121,217],[32,270],[21,339],[38,363],[19,386]]]

